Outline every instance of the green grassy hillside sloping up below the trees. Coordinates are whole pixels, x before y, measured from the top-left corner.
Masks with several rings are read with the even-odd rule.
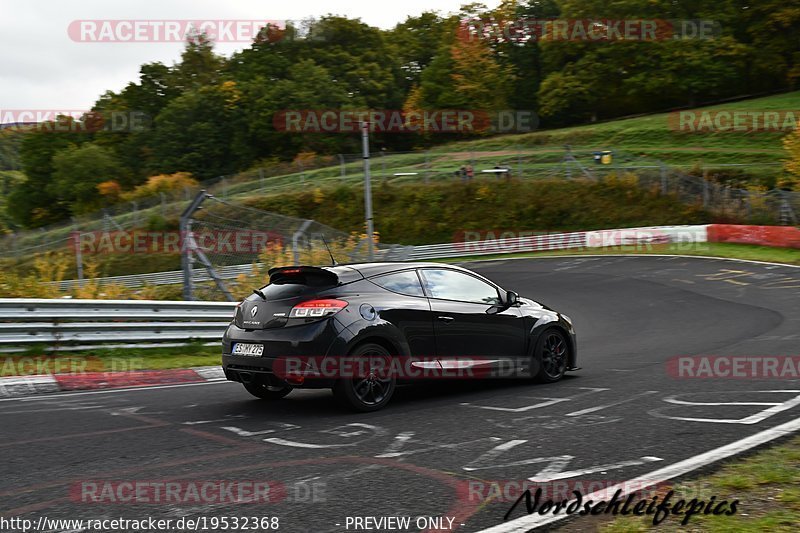
[[[702,108],[707,110],[792,110],[800,109],[800,92],[777,96],[744,100],[735,103]],[[782,148],[784,134],[775,132],[757,133],[679,133],[670,129],[669,114],[648,115],[606,123],[590,124],[533,133],[502,135],[472,141],[441,145],[429,151],[416,151],[401,154],[373,154],[372,175],[376,183],[387,182],[392,185],[424,183],[444,183],[457,181],[454,172],[464,164],[475,165],[476,176],[487,180],[494,179],[481,174],[481,170],[491,169],[503,164],[512,168],[515,178],[523,180],[565,179],[578,177],[581,172],[572,165],[563,164],[564,145],[572,147],[572,153],[579,163],[597,177],[611,171],[641,171],[636,167],[657,167],[662,162],[681,172],[701,173],[705,166],[710,178],[729,178],[739,176],[735,185],[743,185],[748,180],[770,187],[782,173],[781,160],[785,157]],[[608,167],[596,165],[592,153],[597,150],[612,150],[614,164]],[[357,154],[346,157],[344,166],[337,163],[338,158],[328,158],[319,168],[286,173],[287,167],[254,168],[225,180],[213,180],[205,188],[219,197],[236,202],[260,203],[265,197],[332,189],[341,186],[360,186],[363,183],[363,162]],[[743,165],[743,166],[728,166]],[[307,165],[310,166],[310,165]],[[283,172],[280,172],[283,171]],[[344,176],[343,176],[344,173]],[[277,174],[277,175],[276,175]],[[410,174],[401,175],[397,174]],[[136,216],[125,214],[124,208],[115,220],[123,227],[133,227],[136,221],[150,221],[168,213],[167,222],[176,223],[175,214],[181,211],[181,203],[170,204],[167,209],[155,203],[154,207],[143,209]],[[295,216],[295,208],[282,209],[279,200],[269,201],[270,207]],[[287,205],[293,204],[289,202]],[[80,218],[79,218],[80,220]],[[96,217],[85,217],[89,226]],[[336,220],[321,220],[335,225]],[[674,220],[681,222],[681,220]],[[96,225],[96,223],[95,223]],[[348,229],[348,228],[341,228]],[[49,231],[30,233],[29,242],[42,243],[63,239],[69,235],[71,226]],[[24,245],[25,239],[19,240]]]

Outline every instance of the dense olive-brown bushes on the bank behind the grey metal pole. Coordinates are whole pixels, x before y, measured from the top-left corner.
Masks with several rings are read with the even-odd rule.
[[[337,187],[251,198],[259,209],[363,231],[363,189]],[[452,241],[464,230],[572,231],[709,222],[702,209],[643,191],[629,175],[593,181],[475,181],[374,189],[375,227],[398,244]]]

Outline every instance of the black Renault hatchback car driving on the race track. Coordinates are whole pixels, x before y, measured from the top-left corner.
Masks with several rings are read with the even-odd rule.
[[[254,396],[332,388],[358,411],[417,379],[560,380],[577,370],[571,320],[465,268],[362,263],[270,270],[222,340],[225,376]]]

